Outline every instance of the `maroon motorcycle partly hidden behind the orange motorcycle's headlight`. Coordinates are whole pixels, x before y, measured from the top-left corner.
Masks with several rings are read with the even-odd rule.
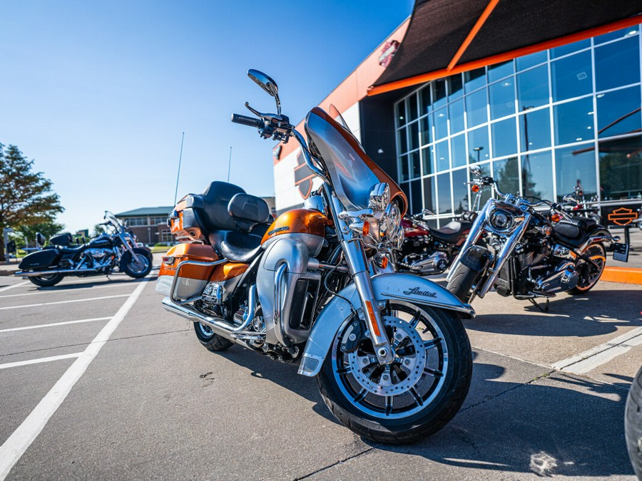
[[[424,221],[426,214],[432,212],[423,210],[402,219],[404,243],[394,253],[399,272],[419,276],[441,274],[459,254],[477,217],[477,212],[467,211],[441,229],[433,229]]]

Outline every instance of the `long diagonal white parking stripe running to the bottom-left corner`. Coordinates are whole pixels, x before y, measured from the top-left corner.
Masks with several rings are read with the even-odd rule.
[[[113,331],[116,330],[118,324],[121,324],[121,321],[125,319],[125,316],[136,303],[143,289],[145,289],[146,281],[148,280],[149,279],[146,279],[141,282],[136,290],[129,295],[125,304],[121,306],[121,309],[118,309],[118,312],[114,314],[111,321],[101,329],[98,336],[91,341],[85,351],[78,356],[76,361],[73,361],[73,364],[71,364],[63,376],[58,379],[58,382],[51,388],[51,391],[45,395],[23,423],[9,436],[9,439],[0,446],[0,481],[6,478],[11,468],[18,462],[31,443],[34,442],[49,421],[49,418],[54,415],[58,406],[61,405],[71,391],[71,388],[73,388],[78,379],[80,379],[86,371],[91,361],[93,361],[93,358],[98,355],[101,348],[109,340],[109,337],[113,334]]]

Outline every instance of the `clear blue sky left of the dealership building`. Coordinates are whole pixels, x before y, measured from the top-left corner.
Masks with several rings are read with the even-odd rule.
[[[3,1],[0,143],[54,182],[71,231],[171,205],[211,180],[273,195],[272,140],[230,123],[273,101],[296,122],[412,11],[379,1]]]

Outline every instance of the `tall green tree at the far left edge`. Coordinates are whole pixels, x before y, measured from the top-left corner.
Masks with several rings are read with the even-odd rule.
[[[33,166],[16,145],[0,144],[0,261],[6,260],[5,228],[54,222],[64,210],[51,180]]]

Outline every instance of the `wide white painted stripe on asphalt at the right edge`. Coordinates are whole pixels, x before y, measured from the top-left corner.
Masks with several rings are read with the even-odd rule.
[[[596,367],[608,363],[611,359],[630,351],[633,346],[640,346],[641,344],[642,327],[637,327],[626,334],[611,339],[611,341],[559,361],[553,367],[567,373],[586,374]]]

